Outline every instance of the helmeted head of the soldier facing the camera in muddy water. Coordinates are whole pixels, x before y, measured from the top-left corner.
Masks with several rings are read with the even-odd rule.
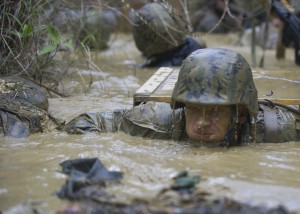
[[[193,141],[240,141],[241,127],[258,112],[251,68],[232,50],[206,48],[183,62],[171,101],[185,108],[186,132]]]

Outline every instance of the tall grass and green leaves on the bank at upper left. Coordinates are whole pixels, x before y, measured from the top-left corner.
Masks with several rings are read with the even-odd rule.
[[[56,1],[57,2],[57,1]],[[0,74],[18,75],[42,83],[55,80],[53,68],[62,61],[55,56],[61,45],[72,48],[45,19],[45,11],[54,1],[4,0],[0,5]],[[52,71],[51,71],[52,70]]]

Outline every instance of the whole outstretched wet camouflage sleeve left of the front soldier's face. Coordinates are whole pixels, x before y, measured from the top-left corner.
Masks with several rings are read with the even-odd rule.
[[[175,114],[169,103],[147,102],[127,110],[81,114],[59,130],[70,134],[123,131],[132,136],[169,140]]]

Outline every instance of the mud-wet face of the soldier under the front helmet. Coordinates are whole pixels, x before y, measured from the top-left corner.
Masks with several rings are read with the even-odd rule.
[[[192,141],[222,141],[231,120],[231,106],[187,104],[186,132]]]

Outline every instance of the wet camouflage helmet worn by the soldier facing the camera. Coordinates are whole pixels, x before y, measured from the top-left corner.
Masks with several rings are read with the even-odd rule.
[[[180,68],[173,90],[172,108],[184,103],[245,105],[253,117],[258,112],[252,71],[239,53],[221,48],[199,49]]]

